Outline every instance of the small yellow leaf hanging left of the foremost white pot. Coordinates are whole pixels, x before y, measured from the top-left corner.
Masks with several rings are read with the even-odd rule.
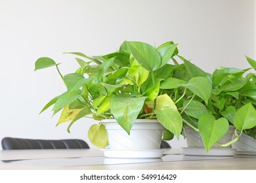
[[[88,137],[98,148],[105,148],[108,145],[108,133],[104,124],[92,125],[88,131]]]

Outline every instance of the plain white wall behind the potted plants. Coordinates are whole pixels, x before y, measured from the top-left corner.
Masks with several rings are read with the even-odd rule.
[[[93,123],[84,119],[55,127],[41,108],[64,92],[54,68],[34,72],[37,58],[62,62],[63,74],[78,65],[62,52],[103,55],[124,40],[159,45],[179,43],[182,56],[213,71],[247,68],[244,55],[255,57],[255,1],[239,0],[0,0],[0,139],[87,139]],[[90,144],[90,143],[89,143]],[[171,141],[173,148],[185,141]],[[91,148],[94,148],[90,144]]]

